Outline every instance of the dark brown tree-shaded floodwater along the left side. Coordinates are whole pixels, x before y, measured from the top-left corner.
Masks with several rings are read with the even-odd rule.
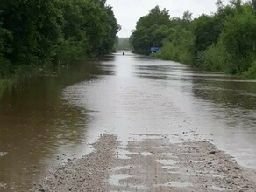
[[[88,117],[61,99],[62,88],[92,79],[97,64],[75,64],[58,77],[27,79],[0,100],[0,182],[28,191],[42,170],[81,153]],[[57,158],[57,155],[59,156]]]

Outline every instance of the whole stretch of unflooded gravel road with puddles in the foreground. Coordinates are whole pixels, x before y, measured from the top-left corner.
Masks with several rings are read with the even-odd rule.
[[[171,143],[138,134],[122,144],[103,134],[94,152],[53,168],[35,191],[255,191],[255,171],[209,141]]]

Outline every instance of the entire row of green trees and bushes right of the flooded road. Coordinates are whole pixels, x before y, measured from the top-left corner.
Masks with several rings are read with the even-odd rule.
[[[256,78],[256,0],[216,5],[215,13],[196,18],[189,11],[170,17],[156,6],[132,31],[133,51],[151,54],[150,47],[159,46],[159,58]]]

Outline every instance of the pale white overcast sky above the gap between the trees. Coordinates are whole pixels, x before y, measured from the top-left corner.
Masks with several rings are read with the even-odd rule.
[[[202,13],[215,12],[215,3],[216,0],[107,0],[107,4],[113,7],[118,24],[122,26],[117,34],[119,37],[129,37],[139,18],[148,14],[156,5],[169,10],[171,17],[181,17],[186,10],[192,12],[193,17],[198,17]]]

